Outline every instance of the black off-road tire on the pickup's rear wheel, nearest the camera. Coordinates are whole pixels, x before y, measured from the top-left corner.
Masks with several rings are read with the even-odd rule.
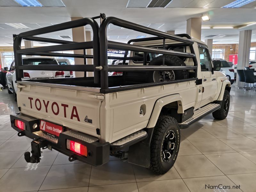
[[[168,161],[163,157],[164,139],[168,132],[175,135],[175,146]],[[180,128],[177,120],[170,116],[159,116],[150,143],[150,169],[157,174],[169,171],[177,158],[180,148]]]

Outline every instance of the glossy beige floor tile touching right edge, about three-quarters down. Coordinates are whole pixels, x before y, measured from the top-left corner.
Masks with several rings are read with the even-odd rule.
[[[256,149],[256,142],[247,137],[222,138],[220,140],[237,152],[254,151]]]

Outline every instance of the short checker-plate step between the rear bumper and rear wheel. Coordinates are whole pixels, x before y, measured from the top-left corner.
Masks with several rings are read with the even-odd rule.
[[[141,140],[146,139],[148,136],[148,133],[144,130],[137,131],[135,133],[132,133],[122,139],[119,139],[113,143],[110,143],[110,150],[111,151],[119,151],[125,147],[131,146],[134,143],[137,143]]]

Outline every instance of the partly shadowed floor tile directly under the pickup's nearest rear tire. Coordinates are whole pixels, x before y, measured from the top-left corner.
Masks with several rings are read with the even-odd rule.
[[[132,165],[135,178],[137,182],[141,181],[155,181],[155,180],[171,180],[171,179],[180,179],[179,173],[174,167],[170,169],[164,175],[159,175],[154,173],[151,169],[146,169],[137,165]]]

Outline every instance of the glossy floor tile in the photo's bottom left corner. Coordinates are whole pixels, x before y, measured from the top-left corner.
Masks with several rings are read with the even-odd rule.
[[[50,167],[9,169],[0,179],[0,192],[37,191]]]

